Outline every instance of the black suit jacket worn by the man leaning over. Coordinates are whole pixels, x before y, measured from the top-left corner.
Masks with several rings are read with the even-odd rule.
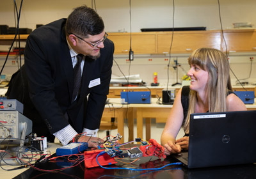
[[[93,130],[100,125],[109,91],[114,44],[106,39],[97,60],[86,56],[81,93],[72,103],[73,67],[65,37],[66,20],[39,27],[28,36],[24,66],[13,75],[6,94],[24,104],[24,115],[33,120],[33,132],[41,130],[42,134],[48,128],[53,134],[70,124],[79,133],[84,127]],[[100,79],[100,84],[89,88],[94,79]]]

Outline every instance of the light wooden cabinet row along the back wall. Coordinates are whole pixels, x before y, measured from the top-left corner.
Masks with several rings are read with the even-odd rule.
[[[255,29],[224,30],[228,52],[255,52]],[[130,40],[134,54],[168,54],[172,40],[172,31],[141,33],[108,33],[115,43],[115,54],[129,54]],[[190,54],[200,47],[212,47],[225,51],[225,42],[220,30],[211,31],[174,31],[172,53]],[[0,44],[12,42],[15,35],[0,35]],[[28,35],[20,35],[24,42]]]

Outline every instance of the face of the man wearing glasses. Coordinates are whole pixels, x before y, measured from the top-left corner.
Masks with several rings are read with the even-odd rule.
[[[100,49],[104,48],[103,42],[106,39],[106,36],[105,31],[102,31],[99,35],[88,35],[88,38],[76,36],[77,45],[75,50],[80,54],[97,59],[100,57]]]

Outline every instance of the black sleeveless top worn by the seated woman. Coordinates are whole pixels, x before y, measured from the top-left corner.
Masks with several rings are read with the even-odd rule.
[[[181,91],[181,104],[183,107],[183,114],[184,114],[184,119],[183,123],[188,115],[188,105],[189,105],[189,93],[190,93],[190,88],[189,86],[183,86],[182,91]],[[230,94],[235,94],[233,91],[228,91],[228,95]],[[185,134],[185,136],[188,136],[189,134]]]

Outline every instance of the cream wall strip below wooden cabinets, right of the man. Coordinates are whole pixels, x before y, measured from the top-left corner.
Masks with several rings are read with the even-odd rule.
[[[253,63],[250,61],[250,57],[253,57]],[[185,75],[189,70],[188,65],[188,56],[178,56],[171,58],[170,67],[168,68],[168,61],[164,61],[168,57],[159,56],[159,57],[140,57],[135,56],[134,61],[131,61],[130,66],[130,74],[140,74],[141,79],[150,84],[154,80],[154,72],[157,72],[158,81],[161,85],[166,86],[168,82],[168,72],[169,69],[169,85],[177,82],[177,72],[173,66],[175,66],[174,60],[177,59],[179,63],[178,67],[178,82],[182,82],[182,76]],[[126,58],[115,58],[115,61],[120,66],[122,72],[125,75],[129,74],[129,62],[125,61]],[[152,59],[152,61],[148,61],[148,59]],[[256,54],[253,55],[245,55],[242,56],[229,56],[230,68],[236,75],[236,77],[240,79],[244,79],[243,81],[248,82],[256,82]],[[252,72],[250,75],[250,69],[252,66]],[[232,84],[236,84],[236,77],[230,72],[230,77]],[[113,65],[113,75],[122,76],[118,66],[116,63]],[[250,78],[248,78],[250,75]]]

